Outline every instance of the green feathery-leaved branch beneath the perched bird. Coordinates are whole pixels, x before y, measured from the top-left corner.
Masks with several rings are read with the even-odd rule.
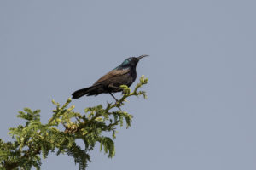
[[[127,86],[121,86],[123,96],[116,103],[107,103],[105,108],[102,105],[88,107],[84,109],[84,114],[73,111],[74,105],[68,106],[72,101],[70,98],[62,106],[52,100],[55,110],[46,124],[40,122],[40,110],[24,108],[24,111],[19,111],[18,117],[26,120],[25,125],[9,129],[15,141],[4,142],[0,139],[0,169],[40,169],[40,156],[45,159],[49,152],[56,151],[57,155],[73,156],[79,169],[84,170],[90,162],[89,152],[96,143],[100,144],[100,150],[104,150],[108,157],[113,157],[116,127],[122,127],[124,122],[127,128],[131,126],[131,114],[120,108],[130,96],[143,95],[146,99],[146,93],[138,91],[138,88],[147,82],[148,79],[142,76],[132,92]],[[65,127],[64,131],[60,130],[61,126]],[[112,135],[104,136],[103,132]],[[76,139],[84,141],[84,150],[76,144]]]

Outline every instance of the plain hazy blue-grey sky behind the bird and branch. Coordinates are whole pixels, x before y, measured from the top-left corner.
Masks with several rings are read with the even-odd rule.
[[[1,139],[24,107],[54,106],[129,56],[148,77],[131,98],[116,156],[98,147],[88,170],[256,169],[255,0],[0,1]],[[138,79],[137,79],[138,81]],[[134,85],[132,86],[134,87]],[[117,97],[120,94],[116,94]],[[75,111],[113,101],[73,100]],[[42,169],[78,169],[50,154]]]

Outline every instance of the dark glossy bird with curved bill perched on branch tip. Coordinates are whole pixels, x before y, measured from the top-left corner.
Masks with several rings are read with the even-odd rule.
[[[83,88],[75,91],[72,94],[72,98],[79,99],[84,95],[111,94],[113,99],[117,100],[112,93],[122,91],[122,88],[119,88],[120,85],[126,85],[128,87],[131,86],[132,82],[134,82],[137,77],[137,63],[140,59],[147,56],[148,55],[141,55],[139,57],[130,57],[125,59],[121,65],[117,66],[112,71],[109,71],[89,88]]]

